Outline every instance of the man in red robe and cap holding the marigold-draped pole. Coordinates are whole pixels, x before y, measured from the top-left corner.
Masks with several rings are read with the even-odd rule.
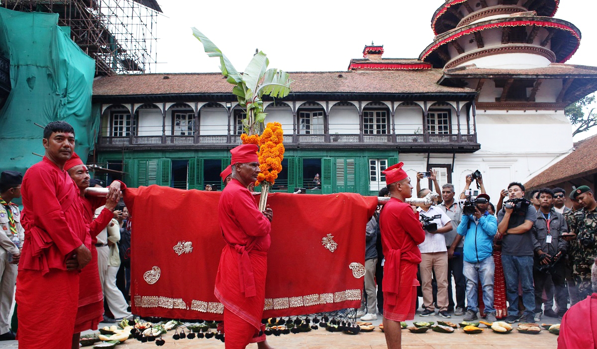
[[[269,348],[262,331],[267,250],[270,246],[272,209],[261,212],[247,187],[257,180],[259,158],[254,144],[232,149],[232,180],[218,205],[218,218],[226,246],[222,249],[214,294],[224,305],[226,349],[245,348],[257,342]]]

